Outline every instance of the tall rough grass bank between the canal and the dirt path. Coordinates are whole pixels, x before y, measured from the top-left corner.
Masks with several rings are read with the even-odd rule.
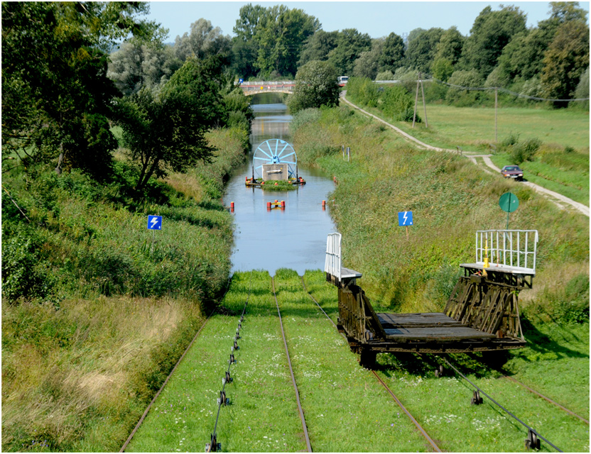
[[[443,309],[460,263],[474,256],[475,231],[505,228],[498,201],[509,191],[520,201],[511,228],[537,229],[540,237],[542,277],[535,286],[543,291],[535,301],[527,298],[530,291],[522,292],[524,306],[541,304],[550,311],[558,302],[553,294],[576,275],[588,276],[588,218],[561,211],[523,184],[479,172],[463,157],[416,150],[394,131],[351,112],[322,109],[317,121],[295,131],[294,143],[301,162],[337,177],[329,209],[343,236],[343,263],[363,273],[376,306]],[[338,150],[320,158],[307,153],[310,144],[331,143],[355,144],[352,162],[344,162]],[[408,238],[398,226],[398,211],[413,211]]]

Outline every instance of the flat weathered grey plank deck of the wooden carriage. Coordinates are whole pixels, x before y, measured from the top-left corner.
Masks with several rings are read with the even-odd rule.
[[[441,312],[430,314],[377,314],[386,337],[405,341],[452,341],[462,339],[492,339],[483,333],[455,321]]]

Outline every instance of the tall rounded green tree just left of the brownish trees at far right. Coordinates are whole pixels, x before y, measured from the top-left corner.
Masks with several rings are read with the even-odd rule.
[[[484,8],[470,29],[462,60],[467,68],[477,70],[482,77],[497,66],[504,47],[518,33],[526,31],[526,15],[515,6],[505,6],[499,11]]]

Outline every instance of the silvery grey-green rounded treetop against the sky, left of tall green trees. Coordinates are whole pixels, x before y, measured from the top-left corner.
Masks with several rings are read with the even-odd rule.
[[[204,59],[210,55],[227,54],[232,47],[228,35],[222,35],[222,29],[213,27],[210,21],[200,18],[191,24],[190,33],[175,39],[175,55],[185,62],[188,57]]]

